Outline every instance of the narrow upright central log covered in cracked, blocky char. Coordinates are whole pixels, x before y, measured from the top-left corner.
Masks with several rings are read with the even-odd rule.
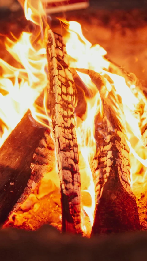
[[[81,181],[74,119],[76,88],[62,36],[51,30],[48,31],[47,59],[50,111],[61,183],[62,231],[82,233]]]

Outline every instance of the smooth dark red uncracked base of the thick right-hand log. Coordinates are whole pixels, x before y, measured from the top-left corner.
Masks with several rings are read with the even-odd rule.
[[[115,172],[116,171],[116,172]],[[96,206],[92,234],[118,233],[140,229],[135,197],[126,191],[117,177],[117,168],[110,172]]]

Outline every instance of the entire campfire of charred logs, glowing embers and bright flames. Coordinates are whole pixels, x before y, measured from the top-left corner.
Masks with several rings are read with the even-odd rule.
[[[60,19],[62,36],[40,1],[20,2],[33,29],[5,38],[14,66],[0,59],[1,224],[50,223],[86,236],[140,229],[133,191],[146,184],[141,83],[92,46],[79,23]]]

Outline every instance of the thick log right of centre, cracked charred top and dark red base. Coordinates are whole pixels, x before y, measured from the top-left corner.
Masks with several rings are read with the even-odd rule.
[[[97,151],[92,168],[96,208],[92,234],[140,229],[137,204],[130,189],[129,147],[112,106],[113,90],[107,92],[99,74],[82,72],[88,73],[98,87],[103,104],[102,119],[99,115],[95,119]],[[118,102],[117,96],[115,99]]]

